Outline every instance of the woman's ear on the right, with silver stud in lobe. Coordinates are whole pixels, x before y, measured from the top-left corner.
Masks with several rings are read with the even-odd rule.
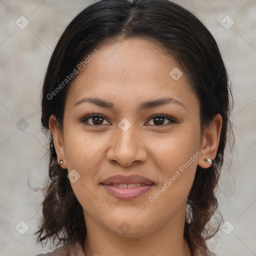
[[[201,155],[198,158],[197,164],[201,168],[208,168],[210,163],[207,163],[204,159],[214,159],[216,157],[220,131],[222,126],[222,117],[220,114],[216,114],[209,124],[208,127],[203,132],[202,143],[200,152]]]

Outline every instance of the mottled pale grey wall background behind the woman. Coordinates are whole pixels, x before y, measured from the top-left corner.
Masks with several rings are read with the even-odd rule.
[[[57,39],[91,2],[0,0],[1,256],[45,252],[33,236],[42,196],[27,184],[29,180],[32,186],[41,186],[47,173],[47,145],[40,132],[40,88]],[[196,13],[212,32],[233,86],[236,144],[229,170],[227,157],[218,192],[220,212],[229,222],[208,244],[218,256],[256,255],[256,0],[176,2]],[[24,29],[15,23],[21,15],[29,21]],[[234,21],[229,29],[223,26],[232,22],[223,19],[226,15]],[[20,221],[29,226],[24,234],[20,232],[26,230],[26,224]]]

